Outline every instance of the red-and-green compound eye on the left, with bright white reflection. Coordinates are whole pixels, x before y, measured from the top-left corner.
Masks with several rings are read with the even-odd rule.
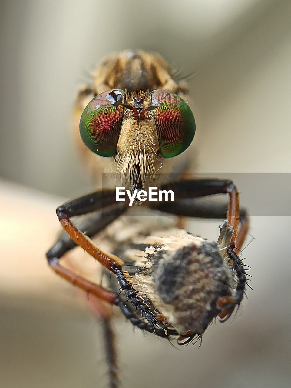
[[[80,120],[80,135],[95,154],[113,156],[123,120],[124,90],[112,89],[98,94],[84,109]]]

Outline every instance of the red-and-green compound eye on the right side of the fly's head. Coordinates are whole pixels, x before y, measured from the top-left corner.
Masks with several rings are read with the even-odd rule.
[[[160,152],[164,158],[181,154],[195,135],[195,119],[188,104],[177,94],[153,90],[152,103]]]

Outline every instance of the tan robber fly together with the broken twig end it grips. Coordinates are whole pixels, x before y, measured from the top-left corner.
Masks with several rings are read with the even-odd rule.
[[[186,83],[174,78],[158,54],[125,51],[110,55],[94,72],[94,83],[79,91],[75,134],[81,135],[82,156],[93,173],[116,173],[118,184],[128,189],[137,203],[139,193],[154,185],[174,192],[172,202],[143,204],[151,209],[147,210],[150,217],[156,219],[159,210],[226,218],[218,242],[207,242],[169,225],[147,225],[142,216],[127,218],[127,226],[132,227],[126,234],[124,213],[128,213],[129,201],[117,202],[116,190],[108,188],[57,208],[66,233],[46,256],[57,274],[100,303],[119,306],[134,326],[163,338],[176,338],[183,345],[201,337],[215,317],[226,320],[241,303],[246,276],[237,249],[245,239],[248,222],[245,212],[239,210],[238,191],[230,180],[181,179],[195,120]],[[180,172],[176,181],[169,175],[172,170]],[[228,206],[196,201],[197,197],[222,193],[229,195]],[[81,215],[87,216],[76,227],[71,217]],[[108,242],[108,251],[91,240],[105,228],[103,240]],[[59,259],[76,245],[102,264],[106,287],[60,265]],[[115,277],[109,278],[109,274]],[[108,316],[104,322],[109,327]],[[113,354],[112,342],[110,334],[108,354]],[[109,361],[110,384],[117,387],[115,358]]]

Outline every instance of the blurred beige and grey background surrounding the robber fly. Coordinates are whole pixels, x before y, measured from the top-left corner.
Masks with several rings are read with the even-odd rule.
[[[70,133],[77,87],[110,52],[144,49],[195,73],[193,169],[227,174],[251,207],[254,291],[199,350],[115,319],[122,386],[289,387],[290,17],[287,0],[1,2],[1,386],[106,386],[100,324],[44,253],[56,206],[93,188]],[[216,239],[217,227],[193,232]]]

